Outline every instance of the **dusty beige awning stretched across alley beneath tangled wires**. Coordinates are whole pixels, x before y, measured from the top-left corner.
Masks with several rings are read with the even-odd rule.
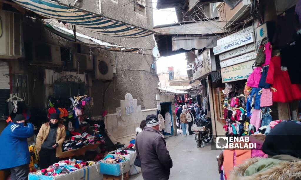
[[[153,30],[162,35],[209,35],[227,32],[221,28],[220,22],[213,20],[159,25]]]

